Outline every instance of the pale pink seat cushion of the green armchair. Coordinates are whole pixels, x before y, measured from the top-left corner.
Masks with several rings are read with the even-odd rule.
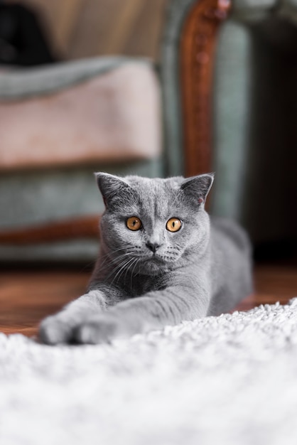
[[[156,75],[141,63],[53,95],[0,102],[0,168],[155,158],[160,108]]]

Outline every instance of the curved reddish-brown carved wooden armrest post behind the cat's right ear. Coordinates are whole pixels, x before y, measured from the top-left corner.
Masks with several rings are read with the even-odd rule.
[[[212,171],[212,73],[220,23],[230,0],[198,0],[180,36],[185,176]]]

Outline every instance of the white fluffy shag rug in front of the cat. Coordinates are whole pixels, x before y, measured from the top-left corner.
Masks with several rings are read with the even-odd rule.
[[[297,444],[297,299],[114,345],[0,334],[1,445]]]

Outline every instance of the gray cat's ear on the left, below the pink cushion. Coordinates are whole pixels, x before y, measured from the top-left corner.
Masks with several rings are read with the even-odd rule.
[[[106,207],[129,193],[130,186],[124,178],[101,172],[95,173],[95,177]]]

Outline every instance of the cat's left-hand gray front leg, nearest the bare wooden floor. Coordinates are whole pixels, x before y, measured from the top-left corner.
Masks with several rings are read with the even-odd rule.
[[[104,289],[92,289],[71,301],[62,311],[46,317],[39,326],[38,338],[42,343],[57,345],[75,341],[78,326],[94,314],[101,313],[119,299],[110,298]]]

